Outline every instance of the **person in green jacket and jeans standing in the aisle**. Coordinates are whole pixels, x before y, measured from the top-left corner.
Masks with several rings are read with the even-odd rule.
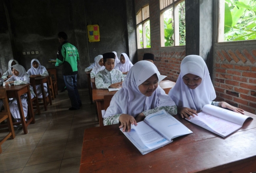
[[[79,61],[79,54],[77,48],[67,41],[67,34],[59,32],[58,39],[61,46],[58,48],[57,59],[55,66],[63,65],[62,73],[64,82],[68,91],[69,99],[72,107],[69,110],[80,109],[82,101],[77,90],[77,61]]]

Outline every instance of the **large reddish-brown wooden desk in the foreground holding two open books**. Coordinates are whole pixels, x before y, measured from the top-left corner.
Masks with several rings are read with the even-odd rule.
[[[85,129],[80,173],[250,173],[256,171],[256,115],[226,138],[174,116],[192,134],[141,155],[119,125]]]

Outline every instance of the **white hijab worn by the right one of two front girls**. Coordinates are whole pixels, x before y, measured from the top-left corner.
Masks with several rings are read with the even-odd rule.
[[[191,73],[201,77],[201,84],[195,89],[190,89],[183,82],[183,76]],[[201,56],[188,55],[181,63],[181,73],[178,80],[168,95],[174,100],[177,107],[186,107],[201,110],[206,104],[216,98],[216,93],[210,80],[207,65]]]

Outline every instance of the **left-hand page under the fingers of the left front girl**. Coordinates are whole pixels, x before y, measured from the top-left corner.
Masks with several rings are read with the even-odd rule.
[[[120,130],[122,131],[123,128]],[[131,131],[123,133],[142,152],[172,142],[159,135],[144,121],[138,122],[137,126],[131,125]]]

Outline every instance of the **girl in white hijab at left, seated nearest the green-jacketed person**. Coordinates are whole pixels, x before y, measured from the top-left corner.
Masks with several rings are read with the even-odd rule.
[[[27,75],[29,77],[41,77],[41,76],[48,76],[48,72],[46,70],[46,67],[41,65],[37,59],[32,59],[31,60],[31,68],[28,69]],[[42,99],[43,93],[41,90],[41,85],[36,85],[36,89],[37,89],[37,97]],[[47,96],[48,92],[47,92],[47,84],[46,83],[44,83],[44,90],[45,90],[45,93]]]

